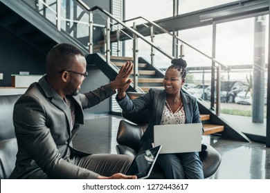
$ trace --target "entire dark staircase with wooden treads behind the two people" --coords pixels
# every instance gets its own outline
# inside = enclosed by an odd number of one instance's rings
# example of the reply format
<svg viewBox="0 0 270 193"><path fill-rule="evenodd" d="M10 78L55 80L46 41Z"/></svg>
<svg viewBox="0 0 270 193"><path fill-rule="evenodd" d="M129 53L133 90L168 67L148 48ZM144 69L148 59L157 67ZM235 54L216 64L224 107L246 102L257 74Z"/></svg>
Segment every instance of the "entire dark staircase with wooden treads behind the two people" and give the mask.
<svg viewBox="0 0 270 193"><path fill-rule="evenodd" d="M40 53L46 55L53 45L60 42L72 43L73 45L78 46L78 48L86 54L88 62L87 65L96 65L110 80L114 80L117 76L117 69L114 68L112 64L108 65L106 59L102 54L100 54L100 52L89 54L87 48L85 48L82 43L71 37L70 34L57 30L53 23L44 19L44 17L39 12L36 12L36 10L33 10L33 8L26 6L24 1L1 0L0 15L1 28L7 30L15 37L18 37L21 41L26 43L26 45L35 48ZM104 48L101 46L96 49L103 50ZM93 57L93 59L90 59L91 57ZM115 63L114 65L117 66L123 65L125 61L133 61L132 58L114 57L111 57L111 60ZM139 59L139 63L138 86L141 90L147 92L150 88L162 89L163 73L160 70L155 69L142 58ZM132 89L132 87L130 88L130 90L134 92L134 89ZM226 138L250 142L244 134L232 128L231 125L217 116L213 110L204 106L204 104L199 100L198 104L201 112L201 121L204 124L204 134L215 134L221 132L220 134Z"/></svg>

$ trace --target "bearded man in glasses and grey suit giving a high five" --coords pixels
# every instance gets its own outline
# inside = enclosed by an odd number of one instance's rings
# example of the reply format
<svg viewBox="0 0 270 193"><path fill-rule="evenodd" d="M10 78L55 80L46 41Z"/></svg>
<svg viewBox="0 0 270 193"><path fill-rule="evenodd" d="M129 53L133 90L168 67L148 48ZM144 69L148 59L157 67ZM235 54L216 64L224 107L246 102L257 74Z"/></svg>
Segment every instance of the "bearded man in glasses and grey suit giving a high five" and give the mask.
<svg viewBox="0 0 270 193"><path fill-rule="evenodd" d="M10 179L136 179L123 174L132 157L73 152L72 136L84 123L83 109L131 82L132 65L125 65L115 81L80 94L86 66L84 54L69 43L55 45L48 52L46 75L15 103L13 122L19 150Z"/></svg>

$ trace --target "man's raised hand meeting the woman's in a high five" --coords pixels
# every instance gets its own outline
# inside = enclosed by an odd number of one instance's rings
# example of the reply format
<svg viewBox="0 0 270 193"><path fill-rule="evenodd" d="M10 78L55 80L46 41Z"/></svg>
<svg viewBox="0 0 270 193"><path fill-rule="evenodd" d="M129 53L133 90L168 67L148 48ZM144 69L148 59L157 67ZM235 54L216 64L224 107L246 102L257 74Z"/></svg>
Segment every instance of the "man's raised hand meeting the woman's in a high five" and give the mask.
<svg viewBox="0 0 270 193"><path fill-rule="evenodd" d="M129 75L132 73L132 70L132 62L127 61L127 63L120 68L116 79L111 82L111 89L118 89L118 92L125 92L127 88L129 88L129 84L132 82L132 79L129 79Z"/></svg>

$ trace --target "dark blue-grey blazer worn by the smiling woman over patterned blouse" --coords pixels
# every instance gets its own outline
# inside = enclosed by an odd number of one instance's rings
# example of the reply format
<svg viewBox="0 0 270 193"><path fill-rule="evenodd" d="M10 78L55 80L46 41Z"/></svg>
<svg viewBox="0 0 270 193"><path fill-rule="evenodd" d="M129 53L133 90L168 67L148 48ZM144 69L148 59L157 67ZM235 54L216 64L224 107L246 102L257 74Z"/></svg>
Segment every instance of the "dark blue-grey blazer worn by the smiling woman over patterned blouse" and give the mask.
<svg viewBox="0 0 270 193"><path fill-rule="evenodd" d="M197 99L189 94L185 94L182 90L180 92L186 114L186 123L201 123ZM141 137L140 151L149 149L154 142L154 125L161 124L166 96L167 93L165 90L150 89L149 92L143 96L133 100L130 100L127 94L125 98L121 100L118 100L116 97L116 101L118 101L120 107L126 112L149 110L150 118L147 130L145 130L145 133Z"/></svg>

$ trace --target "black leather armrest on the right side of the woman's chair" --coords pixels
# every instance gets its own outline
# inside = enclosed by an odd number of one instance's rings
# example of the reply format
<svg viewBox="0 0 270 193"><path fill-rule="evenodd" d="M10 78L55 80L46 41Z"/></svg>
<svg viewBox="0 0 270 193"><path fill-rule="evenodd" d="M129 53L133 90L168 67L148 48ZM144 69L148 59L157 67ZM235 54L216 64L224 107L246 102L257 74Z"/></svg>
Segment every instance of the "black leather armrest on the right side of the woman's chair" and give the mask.
<svg viewBox="0 0 270 193"><path fill-rule="evenodd" d="M208 178L217 171L222 162L222 156L210 144L204 144L207 146L207 149L199 152L199 157L203 163L204 178Z"/></svg>

